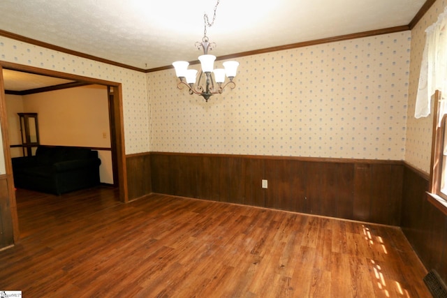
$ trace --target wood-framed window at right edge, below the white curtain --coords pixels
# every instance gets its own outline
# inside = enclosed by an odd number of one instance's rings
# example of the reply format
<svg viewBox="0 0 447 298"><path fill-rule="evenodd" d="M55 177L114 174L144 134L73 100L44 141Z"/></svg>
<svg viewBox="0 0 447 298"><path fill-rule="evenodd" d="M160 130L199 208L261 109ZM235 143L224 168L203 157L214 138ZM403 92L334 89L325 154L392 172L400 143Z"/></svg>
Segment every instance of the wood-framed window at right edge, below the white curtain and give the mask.
<svg viewBox="0 0 447 298"><path fill-rule="evenodd" d="M434 94L432 161L428 199L447 214L447 100Z"/></svg>

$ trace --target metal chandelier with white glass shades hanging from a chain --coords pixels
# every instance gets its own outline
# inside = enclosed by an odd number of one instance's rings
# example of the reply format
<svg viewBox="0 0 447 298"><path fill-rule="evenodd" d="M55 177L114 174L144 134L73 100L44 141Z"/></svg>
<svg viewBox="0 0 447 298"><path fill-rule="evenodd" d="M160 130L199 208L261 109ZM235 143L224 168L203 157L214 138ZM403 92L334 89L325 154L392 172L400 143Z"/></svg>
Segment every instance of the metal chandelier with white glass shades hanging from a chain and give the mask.
<svg viewBox="0 0 447 298"><path fill-rule="evenodd" d="M221 94L223 89L227 86L229 86L230 89L236 87L233 78L236 76L237 66L239 66L239 62L237 61L226 61L222 64L223 68L214 69L214 61L216 60L216 57L208 54L208 51L216 47L216 43L210 43L210 40L207 37L207 27L211 27L214 24L218 5L219 0L214 7L214 17L211 24L207 14L205 13L203 16L203 19L205 20L203 38L201 42L196 43L197 49L203 50L203 55L198 57L198 60L200 61L200 70L188 69L189 62L187 61L175 61L173 63L175 75L179 78L177 88L182 89L182 87L186 86L189 89L189 94L203 96L206 102L208 102L208 99L210 99L213 94ZM225 82L225 77L228 77L227 82Z"/></svg>

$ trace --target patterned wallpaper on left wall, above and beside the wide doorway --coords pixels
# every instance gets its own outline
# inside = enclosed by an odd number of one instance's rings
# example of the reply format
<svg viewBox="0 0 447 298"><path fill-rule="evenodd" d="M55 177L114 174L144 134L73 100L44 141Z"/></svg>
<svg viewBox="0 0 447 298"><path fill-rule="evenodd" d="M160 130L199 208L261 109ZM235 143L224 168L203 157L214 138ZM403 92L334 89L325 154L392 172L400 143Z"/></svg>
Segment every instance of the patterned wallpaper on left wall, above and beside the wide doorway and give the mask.
<svg viewBox="0 0 447 298"><path fill-rule="evenodd" d="M126 154L149 151L149 110L145 73L48 50L0 36L0 59L64 73L122 83Z"/></svg>

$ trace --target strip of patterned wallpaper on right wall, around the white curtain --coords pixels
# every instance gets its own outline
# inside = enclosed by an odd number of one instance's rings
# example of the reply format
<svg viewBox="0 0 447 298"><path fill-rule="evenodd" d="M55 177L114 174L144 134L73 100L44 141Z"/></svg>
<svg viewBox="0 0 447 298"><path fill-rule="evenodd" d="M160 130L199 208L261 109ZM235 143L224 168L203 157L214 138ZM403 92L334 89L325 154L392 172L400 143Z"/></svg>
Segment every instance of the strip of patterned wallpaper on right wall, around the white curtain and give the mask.
<svg viewBox="0 0 447 298"><path fill-rule="evenodd" d="M415 119L413 115L418 91L420 63L425 46L425 29L437 21L438 15L444 11L446 5L446 0L436 1L411 31L409 109L406 124L405 161L426 173L430 173L433 117L430 114L429 117Z"/></svg>

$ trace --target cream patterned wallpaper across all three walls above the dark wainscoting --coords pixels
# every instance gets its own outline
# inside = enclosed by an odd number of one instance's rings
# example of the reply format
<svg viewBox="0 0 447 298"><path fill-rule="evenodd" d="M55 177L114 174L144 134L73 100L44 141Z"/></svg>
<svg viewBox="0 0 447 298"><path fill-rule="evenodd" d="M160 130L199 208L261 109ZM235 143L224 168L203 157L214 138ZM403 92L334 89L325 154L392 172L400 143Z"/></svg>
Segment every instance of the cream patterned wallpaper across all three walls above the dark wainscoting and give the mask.
<svg viewBox="0 0 447 298"><path fill-rule="evenodd" d="M173 70L143 74L3 36L0 59L122 82L126 154L405 159L429 172L432 120L413 118L414 100L424 30L446 1L411 33L241 57L237 87L210 103L178 90Z"/></svg>

